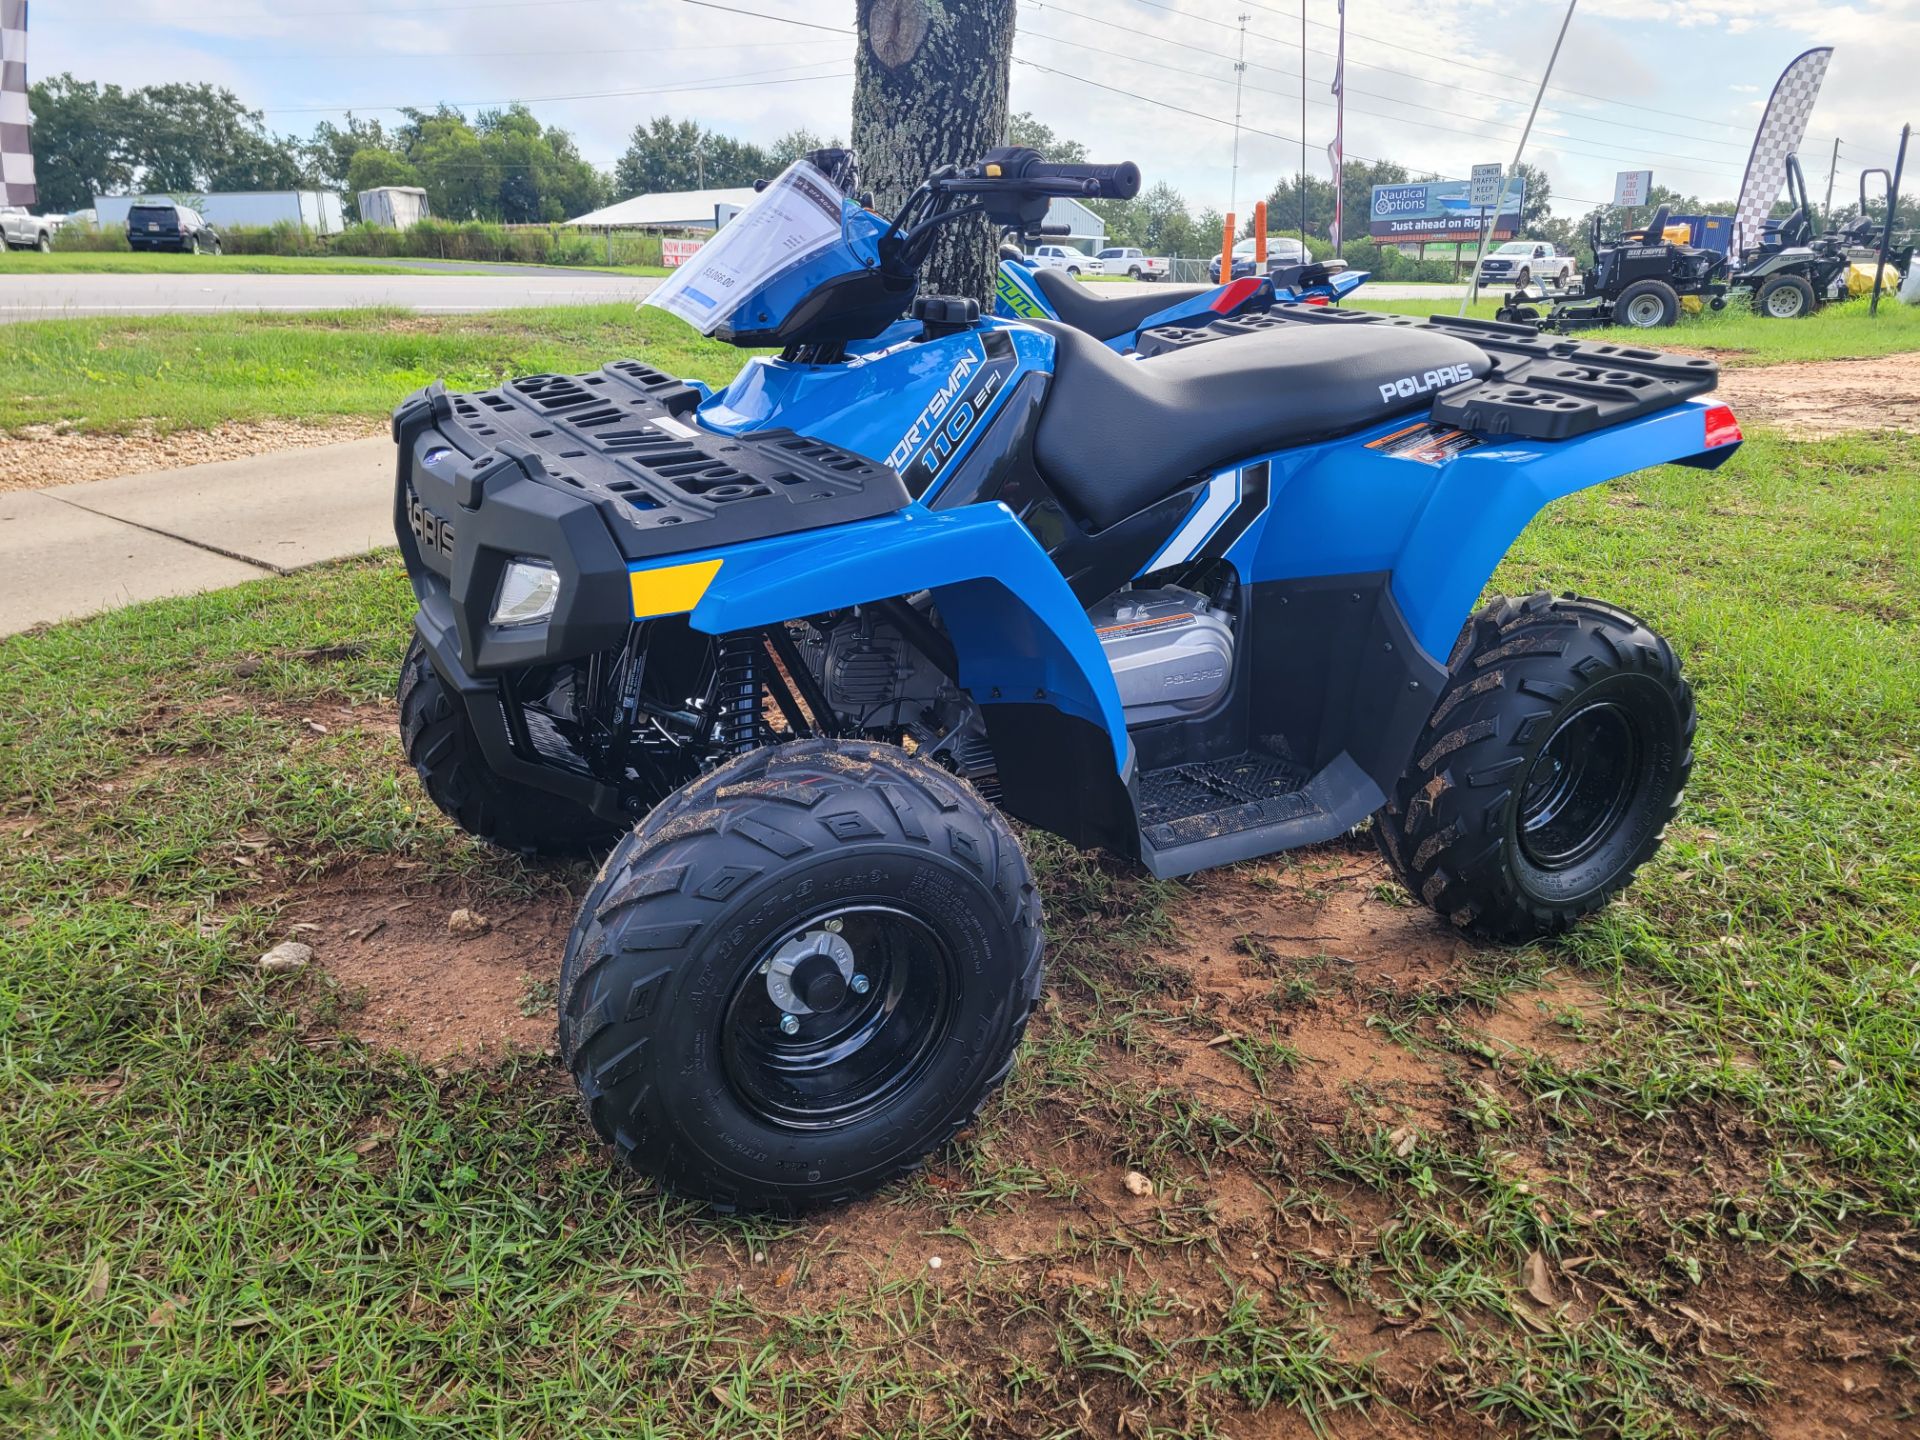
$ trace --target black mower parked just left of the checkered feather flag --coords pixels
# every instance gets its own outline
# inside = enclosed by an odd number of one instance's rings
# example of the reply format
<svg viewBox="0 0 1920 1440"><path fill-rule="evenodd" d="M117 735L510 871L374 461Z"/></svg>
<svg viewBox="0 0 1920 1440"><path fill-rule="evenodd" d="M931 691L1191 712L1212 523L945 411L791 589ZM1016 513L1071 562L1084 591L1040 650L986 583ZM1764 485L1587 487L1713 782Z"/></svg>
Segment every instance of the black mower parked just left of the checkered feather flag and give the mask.
<svg viewBox="0 0 1920 1440"><path fill-rule="evenodd" d="M1690 244L1684 227L1668 228L1668 213L1661 205L1644 230L1603 244L1601 215L1596 211L1588 236L1594 269L1580 276L1580 288L1551 298L1553 309L1542 315L1549 296L1540 286L1523 286L1507 296L1496 317L1559 332L1599 324L1653 330L1672 324L1684 307L1722 309L1726 255Z"/></svg>

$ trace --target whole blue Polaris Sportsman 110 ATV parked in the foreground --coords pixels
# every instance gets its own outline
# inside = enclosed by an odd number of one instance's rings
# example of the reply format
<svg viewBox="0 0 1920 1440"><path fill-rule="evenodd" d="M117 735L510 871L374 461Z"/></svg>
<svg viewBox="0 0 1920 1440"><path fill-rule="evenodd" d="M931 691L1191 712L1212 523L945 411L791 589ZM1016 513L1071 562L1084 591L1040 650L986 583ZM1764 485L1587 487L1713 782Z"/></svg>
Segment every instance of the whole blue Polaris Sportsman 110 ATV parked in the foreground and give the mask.
<svg viewBox="0 0 1920 1440"><path fill-rule="evenodd" d="M1734 453L1709 361L1306 305L1121 357L918 276L952 221L1135 167L995 150L891 221L854 188L797 163L655 294L778 348L724 390L616 361L394 419L407 756L474 835L611 847L559 1035L624 1162L795 1212L968 1125L1041 995L1008 816L1156 876L1371 816L1496 941L1653 854L1674 651L1599 601L1475 607L1546 503Z"/></svg>

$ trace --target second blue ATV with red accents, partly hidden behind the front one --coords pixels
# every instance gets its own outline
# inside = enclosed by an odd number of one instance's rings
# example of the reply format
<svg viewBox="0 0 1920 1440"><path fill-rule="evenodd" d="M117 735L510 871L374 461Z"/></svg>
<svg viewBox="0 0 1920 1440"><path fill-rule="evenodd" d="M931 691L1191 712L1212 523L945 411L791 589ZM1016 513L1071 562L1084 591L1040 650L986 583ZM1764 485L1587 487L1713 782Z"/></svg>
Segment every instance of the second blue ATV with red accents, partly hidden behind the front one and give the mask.
<svg viewBox="0 0 1920 1440"><path fill-rule="evenodd" d="M1148 332L1190 330L1273 305L1338 305L1365 282L1367 271L1350 271L1342 261L1309 261L1227 284L1162 284L1148 294L1100 296L1071 275L1029 265L1025 248L1014 242L1000 246L993 313L1008 321L1060 321L1125 355Z"/></svg>

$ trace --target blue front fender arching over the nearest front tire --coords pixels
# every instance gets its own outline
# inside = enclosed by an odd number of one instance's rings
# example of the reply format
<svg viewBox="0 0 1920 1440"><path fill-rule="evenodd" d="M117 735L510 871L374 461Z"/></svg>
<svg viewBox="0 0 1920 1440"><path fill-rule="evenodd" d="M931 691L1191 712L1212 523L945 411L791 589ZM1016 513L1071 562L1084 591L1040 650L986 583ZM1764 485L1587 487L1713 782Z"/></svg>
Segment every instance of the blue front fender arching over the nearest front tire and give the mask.
<svg viewBox="0 0 1920 1440"><path fill-rule="evenodd" d="M720 561L689 614L722 636L851 605L933 591L981 705L1046 705L1106 735L1131 770L1127 724L1100 641L1058 566L1004 505L904 509L874 520L672 557ZM636 574L655 566L636 566Z"/></svg>

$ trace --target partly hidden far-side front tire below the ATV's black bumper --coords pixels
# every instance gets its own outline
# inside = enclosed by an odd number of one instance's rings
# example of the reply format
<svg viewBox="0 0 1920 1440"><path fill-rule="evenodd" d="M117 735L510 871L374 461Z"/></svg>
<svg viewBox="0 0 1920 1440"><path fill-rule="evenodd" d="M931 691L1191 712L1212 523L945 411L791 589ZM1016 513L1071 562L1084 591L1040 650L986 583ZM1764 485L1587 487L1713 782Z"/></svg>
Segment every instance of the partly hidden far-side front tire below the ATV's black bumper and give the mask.
<svg viewBox="0 0 1920 1440"><path fill-rule="evenodd" d="M461 829L520 854L589 854L620 826L532 785L495 776L467 707L434 670L415 636L399 664L399 743L426 797Z"/></svg>

